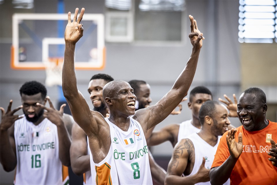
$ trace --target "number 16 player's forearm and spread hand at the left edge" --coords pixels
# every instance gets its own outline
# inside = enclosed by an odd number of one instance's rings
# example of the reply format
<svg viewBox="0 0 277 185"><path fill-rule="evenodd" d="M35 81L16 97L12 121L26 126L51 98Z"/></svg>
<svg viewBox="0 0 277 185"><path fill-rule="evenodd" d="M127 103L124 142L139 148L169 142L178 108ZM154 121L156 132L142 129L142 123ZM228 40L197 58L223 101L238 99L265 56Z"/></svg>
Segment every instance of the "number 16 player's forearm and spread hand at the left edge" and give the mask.
<svg viewBox="0 0 277 185"><path fill-rule="evenodd" d="M19 117L14 115L14 113L22 108L11 110L12 100L8 106L7 112L5 109L0 107L2 117L0 124L0 162L3 165L5 171L14 170L17 160L16 160L16 147L14 139L14 122L23 116Z"/></svg>

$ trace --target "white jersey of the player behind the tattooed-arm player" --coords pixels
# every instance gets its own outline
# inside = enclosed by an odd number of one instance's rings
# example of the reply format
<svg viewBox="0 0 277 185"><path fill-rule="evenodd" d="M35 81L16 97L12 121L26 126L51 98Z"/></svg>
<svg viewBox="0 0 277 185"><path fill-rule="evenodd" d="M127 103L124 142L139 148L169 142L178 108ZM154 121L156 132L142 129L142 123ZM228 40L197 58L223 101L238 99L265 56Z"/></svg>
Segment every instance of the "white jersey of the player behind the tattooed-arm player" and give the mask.
<svg viewBox="0 0 277 185"><path fill-rule="evenodd" d="M187 136L189 136L190 134L198 133L200 131L200 129L194 127L191 124L191 122L192 122L192 120L190 119L190 120L187 120L187 121L184 121L184 122L180 123L179 132L178 132L178 142L181 139L187 138Z"/></svg>

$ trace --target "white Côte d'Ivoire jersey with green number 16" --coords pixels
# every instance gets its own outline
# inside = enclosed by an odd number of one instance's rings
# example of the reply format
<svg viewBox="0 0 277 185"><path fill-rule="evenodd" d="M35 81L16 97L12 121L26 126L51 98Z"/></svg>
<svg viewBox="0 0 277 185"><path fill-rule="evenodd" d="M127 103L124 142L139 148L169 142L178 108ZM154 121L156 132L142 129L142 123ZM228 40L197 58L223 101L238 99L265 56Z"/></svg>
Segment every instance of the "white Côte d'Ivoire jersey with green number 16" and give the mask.
<svg viewBox="0 0 277 185"><path fill-rule="evenodd" d="M14 123L14 138L17 158L15 184L68 184L68 169L63 168L59 160L55 124L45 118L34 125L24 115ZM64 177L63 172L66 173Z"/></svg>

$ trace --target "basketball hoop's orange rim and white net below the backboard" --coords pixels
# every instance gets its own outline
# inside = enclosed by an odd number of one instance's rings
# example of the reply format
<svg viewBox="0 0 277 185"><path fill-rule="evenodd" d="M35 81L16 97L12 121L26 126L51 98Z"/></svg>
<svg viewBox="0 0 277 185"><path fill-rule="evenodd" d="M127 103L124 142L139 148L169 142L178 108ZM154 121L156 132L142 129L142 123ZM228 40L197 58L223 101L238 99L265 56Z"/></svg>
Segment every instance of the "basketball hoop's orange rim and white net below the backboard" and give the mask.
<svg viewBox="0 0 277 185"><path fill-rule="evenodd" d="M45 64L45 72L46 72L45 85L50 87L54 85L61 86L63 58L61 57L48 58L48 61L45 61L44 64Z"/></svg>

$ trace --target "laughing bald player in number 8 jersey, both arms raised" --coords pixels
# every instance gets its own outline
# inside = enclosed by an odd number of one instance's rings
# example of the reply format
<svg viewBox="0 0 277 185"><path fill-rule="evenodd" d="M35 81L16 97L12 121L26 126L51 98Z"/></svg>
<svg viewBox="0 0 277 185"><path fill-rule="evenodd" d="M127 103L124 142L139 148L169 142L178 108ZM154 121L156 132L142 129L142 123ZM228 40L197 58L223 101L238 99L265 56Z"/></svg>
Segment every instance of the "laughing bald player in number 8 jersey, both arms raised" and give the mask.
<svg viewBox="0 0 277 185"><path fill-rule="evenodd" d="M203 34L190 16L192 54L173 88L154 106L135 112L136 96L127 82L115 80L106 84L103 98L110 116L104 118L99 112L89 109L76 84L74 49L83 35L80 21L84 11L82 8L77 19L76 8L73 22L70 20L70 12L68 13L62 75L63 94L74 120L89 138L97 173L96 181L98 184L152 184L145 134L149 128L164 120L186 96L196 71Z"/></svg>

